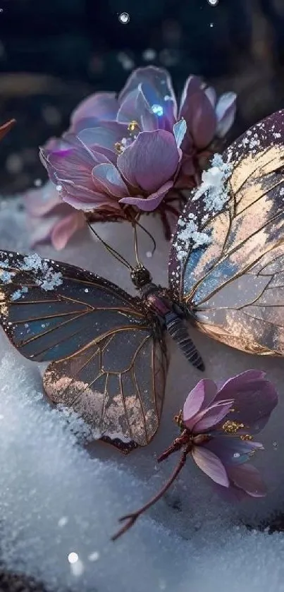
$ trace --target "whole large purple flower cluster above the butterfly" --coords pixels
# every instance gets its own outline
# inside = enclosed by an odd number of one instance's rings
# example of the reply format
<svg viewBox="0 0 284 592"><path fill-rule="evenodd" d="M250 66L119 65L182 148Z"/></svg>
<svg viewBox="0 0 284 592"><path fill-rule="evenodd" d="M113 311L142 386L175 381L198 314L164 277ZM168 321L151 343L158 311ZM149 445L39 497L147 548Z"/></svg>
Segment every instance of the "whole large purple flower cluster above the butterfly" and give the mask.
<svg viewBox="0 0 284 592"><path fill-rule="evenodd" d="M234 116L235 94L216 103L214 90L195 76L178 112L168 72L138 68L117 98L100 92L85 99L63 149L42 148L42 162L63 201L77 210L122 217L125 206L152 212L173 189L197 184L197 152L225 133Z"/></svg>

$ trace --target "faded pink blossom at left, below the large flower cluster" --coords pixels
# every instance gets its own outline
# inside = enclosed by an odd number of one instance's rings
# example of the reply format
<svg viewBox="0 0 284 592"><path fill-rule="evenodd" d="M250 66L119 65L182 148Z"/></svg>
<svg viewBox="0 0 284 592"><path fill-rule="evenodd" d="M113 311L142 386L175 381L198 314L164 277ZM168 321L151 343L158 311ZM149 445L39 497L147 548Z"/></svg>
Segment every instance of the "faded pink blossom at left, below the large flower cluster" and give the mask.
<svg viewBox="0 0 284 592"><path fill-rule="evenodd" d="M62 203L51 181L41 188L27 191L24 199L32 247L37 243L51 241L56 250L61 250L71 236L86 224L82 212Z"/></svg>

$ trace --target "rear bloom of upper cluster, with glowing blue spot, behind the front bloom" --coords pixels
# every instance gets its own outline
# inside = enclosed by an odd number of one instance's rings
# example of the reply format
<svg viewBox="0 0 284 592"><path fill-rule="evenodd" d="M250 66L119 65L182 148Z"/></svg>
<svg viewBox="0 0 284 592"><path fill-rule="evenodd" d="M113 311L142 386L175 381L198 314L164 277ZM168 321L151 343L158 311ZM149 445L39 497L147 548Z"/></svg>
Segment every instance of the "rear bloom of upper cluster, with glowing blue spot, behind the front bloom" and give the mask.
<svg viewBox="0 0 284 592"><path fill-rule="evenodd" d="M183 151L190 154L192 147L209 146L214 136L223 138L234 122L235 111L235 92L226 92L217 100L214 88L195 75L187 78L178 109L169 73L147 66L130 74L118 97L114 92L96 92L82 101L73 112L70 129L76 132L104 121L137 121L142 131L171 132L184 118L187 138Z"/></svg>

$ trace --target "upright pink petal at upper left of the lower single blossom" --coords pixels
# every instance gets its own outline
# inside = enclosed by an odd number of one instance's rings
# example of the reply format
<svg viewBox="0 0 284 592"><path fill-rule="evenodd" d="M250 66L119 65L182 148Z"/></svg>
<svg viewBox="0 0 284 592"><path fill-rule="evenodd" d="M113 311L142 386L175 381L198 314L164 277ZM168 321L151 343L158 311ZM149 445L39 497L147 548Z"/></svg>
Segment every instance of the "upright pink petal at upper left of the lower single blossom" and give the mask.
<svg viewBox="0 0 284 592"><path fill-rule="evenodd" d="M216 392L215 382L204 378L203 380L199 380L195 388L187 395L183 406L183 422L189 430L192 427L192 423L195 422L195 415L202 408L205 399L210 401L211 398L215 397Z"/></svg>

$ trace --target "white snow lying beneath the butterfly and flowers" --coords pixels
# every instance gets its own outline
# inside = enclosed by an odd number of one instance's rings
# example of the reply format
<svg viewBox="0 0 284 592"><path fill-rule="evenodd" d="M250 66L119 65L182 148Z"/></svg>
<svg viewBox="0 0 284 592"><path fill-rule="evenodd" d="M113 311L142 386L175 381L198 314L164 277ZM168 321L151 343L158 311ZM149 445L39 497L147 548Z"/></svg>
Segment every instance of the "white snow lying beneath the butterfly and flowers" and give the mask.
<svg viewBox="0 0 284 592"><path fill-rule="evenodd" d="M149 238L140 236L140 256L157 283L166 285L167 250L156 220L146 218L157 249L147 258ZM123 256L132 252L125 224L97 226ZM0 208L0 247L28 251L28 229L17 200ZM87 267L133 293L128 270L104 253L85 231L60 254L40 255ZM283 509L283 361L248 356L191 332L206 363L206 377L222 380L247 370L267 372L280 394L278 411L261 434L265 451L256 465L270 492L264 500L226 505L197 467L188 462L168 495L116 543L109 540L118 517L149 500L178 457L161 465L156 456L177 435L173 416L200 379L171 345L161 428L145 449L123 457L99 442L82 447L84 427L51 409L42 397L42 367L26 361L0 335L0 528L1 559L56 592L282 592L282 533L259 531L260 521ZM252 528L247 529L245 524ZM70 553L78 561L70 563ZM75 558L75 555L71 555Z"/></svg>

